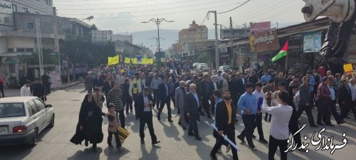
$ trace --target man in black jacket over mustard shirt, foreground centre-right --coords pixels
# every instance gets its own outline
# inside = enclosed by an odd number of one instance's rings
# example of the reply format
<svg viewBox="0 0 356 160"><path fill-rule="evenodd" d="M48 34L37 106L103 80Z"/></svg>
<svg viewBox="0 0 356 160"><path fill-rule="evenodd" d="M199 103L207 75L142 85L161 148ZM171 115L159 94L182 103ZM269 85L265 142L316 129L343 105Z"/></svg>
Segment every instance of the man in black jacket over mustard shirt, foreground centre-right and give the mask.
<svg viewBox="0 0 356 160"><path fill-rule="evenodd" d="M211 159L216 159L216 152L220 149L222 144L226 144L224 137L222 134L226 134L226 136L236 144L235 141L235 125L233 119L233 112L231 106L231 95L229 90L223 91L224 100L221 100L216 103L216 114L215 114L215 127L219 132L214 130L214 137L216 137L217 141L211 150L210 156ZM237 150L234 147L231 147L232 156L234 160L239 159L237 156Z"/></svg>

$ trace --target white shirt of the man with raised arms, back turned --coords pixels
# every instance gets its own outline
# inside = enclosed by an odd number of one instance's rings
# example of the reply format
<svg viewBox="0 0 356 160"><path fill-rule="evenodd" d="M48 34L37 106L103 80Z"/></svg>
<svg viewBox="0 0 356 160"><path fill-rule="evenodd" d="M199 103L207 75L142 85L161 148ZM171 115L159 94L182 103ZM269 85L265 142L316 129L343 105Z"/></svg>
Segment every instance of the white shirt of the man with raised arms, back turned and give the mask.
<svg viewBox="0 0 356 160"><path fill-rule="evenodd" d="M289 138L288 124L292 116L293 108L289 105L281 105L268 107L266 100L263 101L262 110L272 114L270 134L273 138L286 140ZM273 103L278 103L273 100Z"/></svg>

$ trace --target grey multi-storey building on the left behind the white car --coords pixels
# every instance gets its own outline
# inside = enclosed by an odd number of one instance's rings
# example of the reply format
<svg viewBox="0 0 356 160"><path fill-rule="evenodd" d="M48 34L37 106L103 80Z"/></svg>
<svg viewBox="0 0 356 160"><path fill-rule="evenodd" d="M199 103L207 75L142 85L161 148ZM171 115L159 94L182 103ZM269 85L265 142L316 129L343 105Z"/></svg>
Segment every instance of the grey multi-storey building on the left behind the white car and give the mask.
<svg viewBox="0 0 356 160"><path fill-rule="evenodd" d="M7 82L17 83L19 76L27 70L26 62L21 62L21 56L31 55L38 50L37 31L41 33L41 48L54 50L54 17L14 12L12 19L11 29L0 30L0 75ZM57 33L59 40L63 40L66 33L90 36L90 25L76 18L57 17Z"/></svg>

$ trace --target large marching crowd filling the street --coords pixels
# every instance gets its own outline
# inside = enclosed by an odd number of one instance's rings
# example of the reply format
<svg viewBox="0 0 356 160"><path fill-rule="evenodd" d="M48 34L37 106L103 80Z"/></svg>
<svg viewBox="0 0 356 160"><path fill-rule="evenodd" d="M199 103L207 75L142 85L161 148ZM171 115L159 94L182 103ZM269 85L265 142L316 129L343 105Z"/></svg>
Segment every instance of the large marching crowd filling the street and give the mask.
<svg viewBox="0 0 356 160"><path fill-rule="evenodd" d="M112 128L108 129L108 145L112 146L112 134L118 139L118 129L115 126L125 128L125 114L132 114L130 112L135 109L135 117L140 119L141 143L145 143L144 128L147 124L152 145L155 145L159 141L153 129L152 119L156 115L152 114L152 110L158 111L157 119L160 121L162 110L167 107L167 120L173 122L173 104L178 109L178 124L187 130L189 136L199 141L201 137L197 122L201 120L200 117L214 118L216 144L210 153L211 159L216 159L221 145L232 151L233 159L238 159L236 149L222 135L225 134L236 144L234 123L240 118L245 127L237 136L241 143L246 143L246 138L250 149L256 150L252 139L256 138L253 132L257 128L259 142L268 144L268 159L273 159L278 146L281 149L281 159L287 159L284 151L287 150L290 134L293 135L298 150L303 151L300 148L300 134L295 133L299 130L299 118L304 111L310 127L333 127L331 114L337 124L342 124L349 118L350 110L356 119L356 79L351 73L333 74L330 70L320 68L309 70L306 75L293 69L287 70L286 74L278 73L273 68L248 68L244 72L201 72L187 64L174 65L174 68L175 70L171 70L171 67L155 68L153 65L124 68L117 65L90 70L85 78L88 95L80 109L77 133L86 128L90 128L87 131L98 131L101 127L100 119L103 120L101 115L112 114L114 118L110 118L109 123L109 128ZM105 100L109 110L106 114L102 113ZM100 110L85 104L92 104ZM316 123L312 113L315 107L318 110ZM97 113L93 114L94 110ZM117 122L114 122L115 119ZM271 122L269 143L263 137L263 119ZM96 143L103 140L100 132L96 132L98 135L95 132L84 133L88 135L73 137L72 142L80 144L85 139L85 145L89 141L95 149ZM119 142L117 148L120 150Z"/></svg>

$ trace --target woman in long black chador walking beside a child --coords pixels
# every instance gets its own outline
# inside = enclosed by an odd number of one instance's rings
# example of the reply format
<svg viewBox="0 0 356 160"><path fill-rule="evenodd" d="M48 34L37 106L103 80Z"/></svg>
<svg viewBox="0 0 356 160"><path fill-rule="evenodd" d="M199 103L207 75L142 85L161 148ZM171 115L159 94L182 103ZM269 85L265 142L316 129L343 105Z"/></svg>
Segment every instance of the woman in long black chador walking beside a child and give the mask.
<svg viewBox="0 0 356 160"><path fill-rule="evenodd" d="M95 104L93 96L85 95L79 112L79 122L75 130L75 135L70 142L73 144L81 144L85 140L85 146L88 142L93 144L93 151L96 151L96 144L103 142L103 112Z"/></svg>

